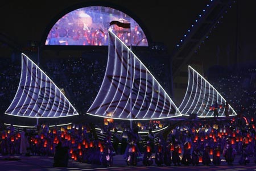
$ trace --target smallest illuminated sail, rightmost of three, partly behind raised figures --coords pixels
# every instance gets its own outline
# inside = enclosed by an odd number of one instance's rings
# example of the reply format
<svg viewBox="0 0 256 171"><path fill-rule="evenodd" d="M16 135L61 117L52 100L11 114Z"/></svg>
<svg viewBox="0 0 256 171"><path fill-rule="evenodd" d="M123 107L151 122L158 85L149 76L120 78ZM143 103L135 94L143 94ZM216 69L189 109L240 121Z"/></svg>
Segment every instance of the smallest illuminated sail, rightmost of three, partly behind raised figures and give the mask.
<svg viewBox="0 0 256 171"><path fill-rule="evenodd" d="M195 69L188 66L188 87L179 106L181 114L197 114L197 117L214 117L213 105L217 102L218 116L225 116L226 100ZM229 105L229 116L237 115Z"/></svg>

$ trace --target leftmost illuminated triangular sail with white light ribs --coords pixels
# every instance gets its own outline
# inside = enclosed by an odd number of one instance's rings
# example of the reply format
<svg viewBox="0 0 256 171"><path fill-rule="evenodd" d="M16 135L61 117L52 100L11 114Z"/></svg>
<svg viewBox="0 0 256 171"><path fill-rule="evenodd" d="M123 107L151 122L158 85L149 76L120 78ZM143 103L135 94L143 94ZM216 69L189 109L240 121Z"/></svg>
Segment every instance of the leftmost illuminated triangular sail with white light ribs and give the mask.
<svg viewBox="0 0 256 171"><path fill-rule="evenodd" d="M19 87L5 114L57 118L78 115L78 112L46 73L22 53Z"/></svg>

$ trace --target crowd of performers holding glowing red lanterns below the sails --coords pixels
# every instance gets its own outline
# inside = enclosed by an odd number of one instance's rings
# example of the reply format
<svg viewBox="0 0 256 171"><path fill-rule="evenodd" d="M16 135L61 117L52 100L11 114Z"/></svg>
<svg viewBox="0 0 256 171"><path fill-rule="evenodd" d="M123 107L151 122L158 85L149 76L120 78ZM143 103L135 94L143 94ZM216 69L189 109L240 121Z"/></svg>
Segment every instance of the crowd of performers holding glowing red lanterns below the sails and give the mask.
<svg viewBox="0 0 256 171"><path fill-rule="evenodd" d="M117 128L113 132L112 128L107 128L104 139L98 137L95 127L88 125L60 130L38 127L34 134L26 129L15 132L10 128L2 131L0 151L1 155L54 156L53 166L67 166L70 159L113 166L115 155L122 155L129 166L138 162L157 166L221 165L221 159L233 165L236 156L240 156L238 163L241 165L256 163L254 122L248 123L246 128L231 126L226 124L224 128L230 127L232 131L221 131L209 123L188 126L188 130L176 126L166 138L155 135L150 129L143 139L138 128L123 130L122 134L118 134Z"/></svg>

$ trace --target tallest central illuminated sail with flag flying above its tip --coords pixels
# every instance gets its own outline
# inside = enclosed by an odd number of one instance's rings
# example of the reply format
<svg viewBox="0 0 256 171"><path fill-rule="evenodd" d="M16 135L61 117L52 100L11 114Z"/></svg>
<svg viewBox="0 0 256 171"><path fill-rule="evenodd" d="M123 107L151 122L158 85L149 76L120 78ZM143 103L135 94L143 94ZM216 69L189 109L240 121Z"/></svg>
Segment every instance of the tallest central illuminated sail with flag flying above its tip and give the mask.
<svg viewBox="0 0 256 171"><path fill-rule="evenodd" d="M87 113L126 120L181 116L179 109L146 66L111 31L104 80Z"/></svg>

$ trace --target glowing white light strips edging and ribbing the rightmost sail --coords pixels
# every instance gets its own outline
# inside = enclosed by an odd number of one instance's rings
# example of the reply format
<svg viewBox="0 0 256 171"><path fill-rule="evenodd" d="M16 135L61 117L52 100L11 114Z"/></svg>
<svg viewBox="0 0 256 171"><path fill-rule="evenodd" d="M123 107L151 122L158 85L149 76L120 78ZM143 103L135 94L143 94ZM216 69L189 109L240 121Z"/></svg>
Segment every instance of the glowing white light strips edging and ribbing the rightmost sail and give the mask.
<svg viewBox="0 0 256 171"><path fill-rule="evenodd" d="M203 76L201 76L201 74L199 74L195 69L193 69L191 66L188 66L188 68L189 69L192 69L192 75L193 75L193 78L195 77L194 76L194 72L196 73L195 75L196 75L196 77L201 77L201 79L203 79L204 81L205 81L205 84L207 84L208 86L209 86L209 88L208 88L208 91L209 91L209 93L212 93L213 95L212 95L212 97L213 97L213 100L212 100L212 102L214 102L214 91L215 91L215 93L216 93L216 99L217 99L217 102L218 102L218 98L219 98L219 96L220 96L220 101L222 102L222 100L224 101L224 102L226 102L226 100L225 100L225 98L224 97L222 97L222 95L220 94L220 93L218 93L218 91L203 77ZM188 77L189 77L189 79L188 79L188 85L190 84L190 74L188 74ZM192 79L193 80L193 79ZM194 80L193 80L193 87L194 87ZM196 85L197 86L197 85ZM193 87L192 87L192 90L193 90ZM206 86L205 86L205 88L206 88ZM185 101L185 97L187 96L187 93L188 93L188 89L189 89L189 86L187 87L187 91L186 91L186 93L185 93L185 96L184 96L184 99L183 99L183 101L181 102L181 105L183 105L183 102ZM210 89L212 89L212 91L210 92ZM192 91L191 91L191 93L192 93ZM208 94L209 94L208 93ZM190 97L191 97L191 95L189 95L189 99L190 99ZM207 104L210 102L210 95L208 95L208 101L207 101ZM187 103L186 103L186 105L185 105L185 107L187 106L187 104L188 104L188 102L189 101L187 101ZM179 108L181 107L181 105L179 106ZM212 104L211 104L212 105ZM185 107L183 108L183 110L185 109ZM204 109L204 111L207 109L208 107L206 106L205 107L205 109ZM187 110L187 111L189 111L191 109L191 107L189 107L189 109ZM183 110L181 110L181 113L183 112ZM234 115L237 115L236 114L236 111L234 111L234 109L229 105L229 111L230 110L232 110L232 114L229 114L229 116L234 116ZM204 113L204 111L203 111L203 113ZM218 112L220 111L220 109L218 109ZM208 112L207 112L207 114L206 114L206 116L201 116L201 115L197 115L198 117L200 117L200 118L212 118L213 117L213 114L211 114L210 116L208 116L208 114L209 114L209 112L210 112L210 110L208 110ZM211 112L213 112L213 111L211 111ZM188 114L183 114L183 115L188 115ZM224 111L222 111L221 112L221 115L219 115L220 117L224 117L225 115L224 115Z"/></svg>

